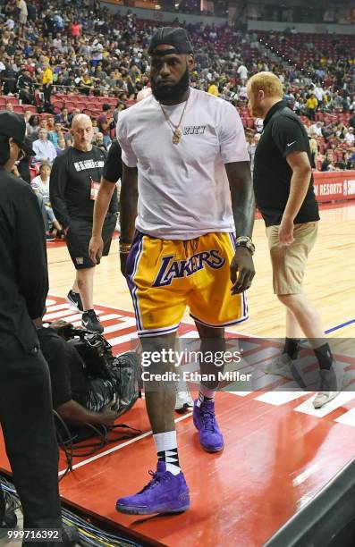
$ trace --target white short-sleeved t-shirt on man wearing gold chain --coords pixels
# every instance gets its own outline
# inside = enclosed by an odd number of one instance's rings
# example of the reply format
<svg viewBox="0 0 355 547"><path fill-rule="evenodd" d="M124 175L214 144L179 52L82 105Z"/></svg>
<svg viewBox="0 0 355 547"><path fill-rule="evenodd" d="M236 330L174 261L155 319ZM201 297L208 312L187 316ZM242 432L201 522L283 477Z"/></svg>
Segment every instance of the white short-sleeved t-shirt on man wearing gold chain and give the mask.
<svg viewBox="0 0 355 547"><path fill-rule="evenodd" d="M184 106L165 106L175 125ZM181 130L175 145L153 96L120 115L123 163L138 168L137 230L165 240L234 231L224 164L249 161L239 114L223 99L190 88Z"/></svg>

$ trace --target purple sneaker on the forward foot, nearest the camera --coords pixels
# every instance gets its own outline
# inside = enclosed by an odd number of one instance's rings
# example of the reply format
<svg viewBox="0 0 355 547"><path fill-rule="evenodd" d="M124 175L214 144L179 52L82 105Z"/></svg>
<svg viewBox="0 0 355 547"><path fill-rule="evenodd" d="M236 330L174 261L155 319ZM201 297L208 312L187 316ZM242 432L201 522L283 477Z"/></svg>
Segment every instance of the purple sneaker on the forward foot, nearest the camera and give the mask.
<svg viewBox="0 0 355 547"><path fill-rule="evenodd" d="M140 492L117 500L116 509L128 515L181 513L190 508L189 488L182 473L166 471L165 462L158 461L152 480Z"/></svg>

